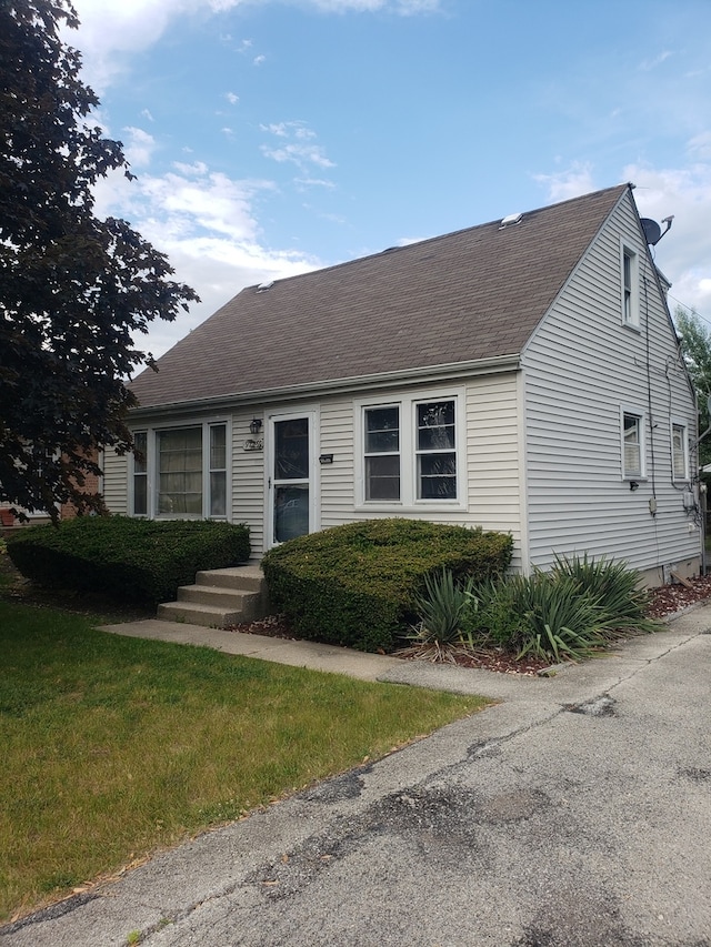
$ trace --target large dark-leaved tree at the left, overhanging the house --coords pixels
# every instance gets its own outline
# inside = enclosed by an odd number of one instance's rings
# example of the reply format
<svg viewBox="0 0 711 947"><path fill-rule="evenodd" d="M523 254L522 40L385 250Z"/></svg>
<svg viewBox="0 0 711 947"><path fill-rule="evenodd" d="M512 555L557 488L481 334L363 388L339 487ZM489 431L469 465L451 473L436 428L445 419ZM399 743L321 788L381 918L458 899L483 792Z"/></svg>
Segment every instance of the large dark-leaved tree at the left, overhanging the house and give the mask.
<svg viewBox="0 0 711 947"><path fill-rule="evenodd" d="M92 185L119 170L121 142L91 122L99 104L69 0L0 0L0 500L30 511L100 498L98 446L131 449L132 333L198 300L123 220L99 220Z"/></svg>

